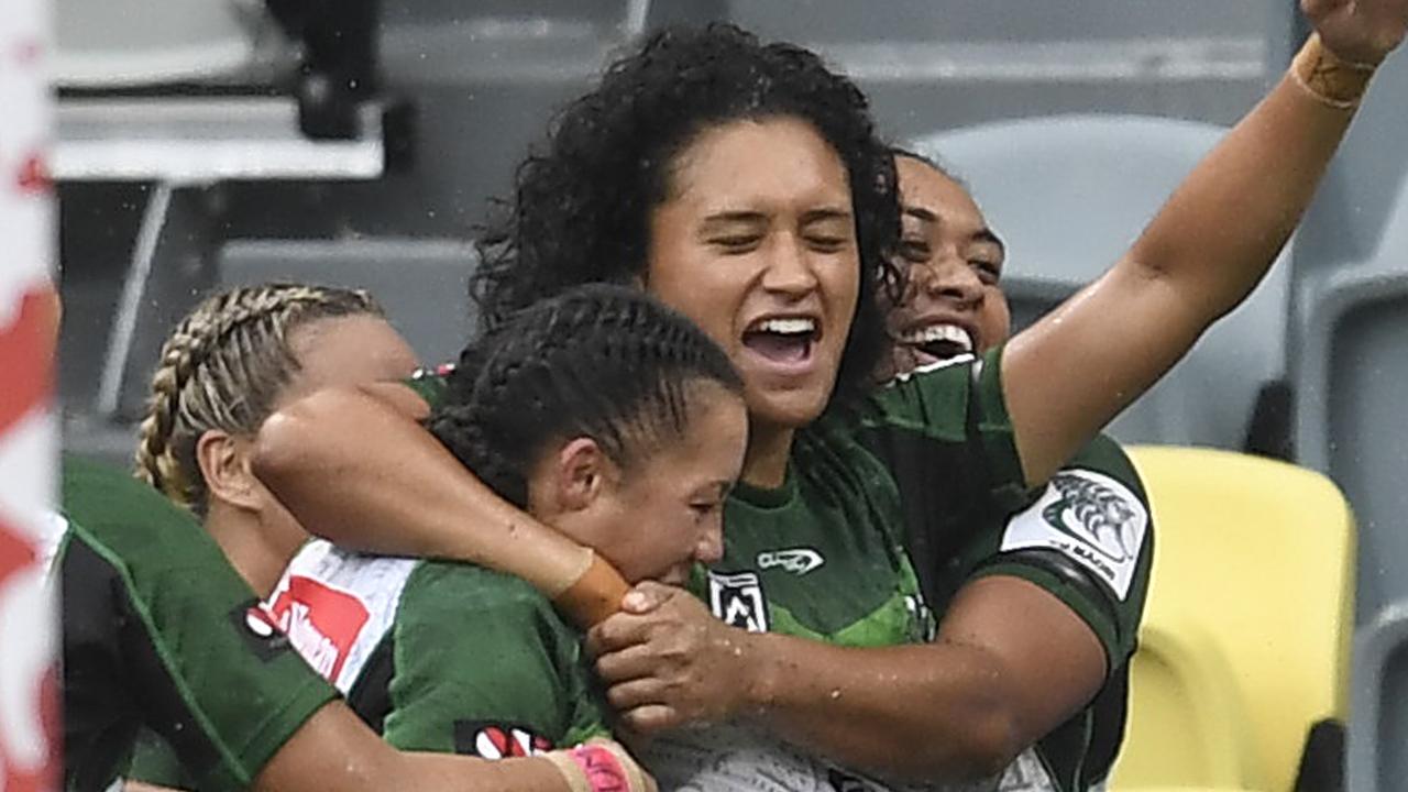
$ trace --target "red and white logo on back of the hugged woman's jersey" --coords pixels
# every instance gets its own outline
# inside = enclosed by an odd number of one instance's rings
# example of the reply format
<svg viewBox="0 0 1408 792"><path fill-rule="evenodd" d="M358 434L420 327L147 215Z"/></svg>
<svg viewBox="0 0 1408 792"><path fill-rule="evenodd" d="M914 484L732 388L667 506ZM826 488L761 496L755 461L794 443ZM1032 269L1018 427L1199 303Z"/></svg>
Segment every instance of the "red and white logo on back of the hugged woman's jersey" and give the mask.
<svg viewBox="0 0 1408 792"><path fill-rule="evenodd" d="M269 612L308 665L334 682L369 617L356 596L301 575L289 578Z"/></svg>

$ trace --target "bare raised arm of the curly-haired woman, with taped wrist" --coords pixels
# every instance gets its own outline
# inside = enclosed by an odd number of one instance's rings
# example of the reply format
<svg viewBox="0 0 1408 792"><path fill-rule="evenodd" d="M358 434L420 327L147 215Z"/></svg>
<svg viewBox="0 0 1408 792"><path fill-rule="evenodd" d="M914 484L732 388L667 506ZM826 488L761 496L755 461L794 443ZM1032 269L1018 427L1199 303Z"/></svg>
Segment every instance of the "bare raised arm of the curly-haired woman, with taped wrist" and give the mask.
<svg viewBox="0 0 1408 792"><path fill-rule="evenodd" d="M1371 66L1408 24L1405 0L1301 7L1316 35L1290 73L1112 269L1008 345L1004 392L1029 482L1049 478L1256 286L1305 211Z"/></svg>

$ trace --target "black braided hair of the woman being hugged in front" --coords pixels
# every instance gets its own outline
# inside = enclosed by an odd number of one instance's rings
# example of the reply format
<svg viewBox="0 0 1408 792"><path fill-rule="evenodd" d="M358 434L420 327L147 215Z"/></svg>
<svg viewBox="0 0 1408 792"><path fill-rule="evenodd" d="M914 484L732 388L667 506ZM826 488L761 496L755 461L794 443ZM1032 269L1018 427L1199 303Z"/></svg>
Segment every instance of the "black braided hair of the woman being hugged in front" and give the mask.
<svg viewBox="0 0 1408 792"><path fill-rule="evenodd" d="M684 433L701 383L742 396L728 355L635 289L580 286L470 344L427 426L505 500L553 440L590 437L627 469Z"/></svg>

